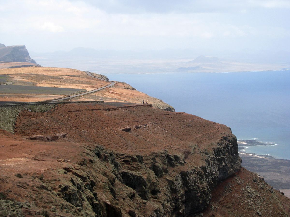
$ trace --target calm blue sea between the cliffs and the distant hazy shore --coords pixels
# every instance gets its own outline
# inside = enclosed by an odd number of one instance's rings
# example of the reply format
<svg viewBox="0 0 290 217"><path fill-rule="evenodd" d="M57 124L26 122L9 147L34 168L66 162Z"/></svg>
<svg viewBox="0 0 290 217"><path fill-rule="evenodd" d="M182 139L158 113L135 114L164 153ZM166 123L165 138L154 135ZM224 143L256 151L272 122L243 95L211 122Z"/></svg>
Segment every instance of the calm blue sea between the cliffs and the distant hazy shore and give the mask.
<svg viewBox="0 0 290 217"><path fill-rule="evenodd" d="M105 74L183 111L273 145L248 153L290 159L290 71Z"/></svg>

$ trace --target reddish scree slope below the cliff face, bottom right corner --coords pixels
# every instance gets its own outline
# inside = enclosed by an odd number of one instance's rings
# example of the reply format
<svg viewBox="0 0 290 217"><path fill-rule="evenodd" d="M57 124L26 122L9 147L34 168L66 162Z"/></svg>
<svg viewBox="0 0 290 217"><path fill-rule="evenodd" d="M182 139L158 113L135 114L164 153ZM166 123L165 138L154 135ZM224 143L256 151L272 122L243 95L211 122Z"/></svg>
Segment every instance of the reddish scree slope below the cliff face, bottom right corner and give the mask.
<svg viewBox="0 0 290 217"><path fill-rule="evenodd" d="M204 216L289 216L290 199L242 168L218 184Z"/></svg>

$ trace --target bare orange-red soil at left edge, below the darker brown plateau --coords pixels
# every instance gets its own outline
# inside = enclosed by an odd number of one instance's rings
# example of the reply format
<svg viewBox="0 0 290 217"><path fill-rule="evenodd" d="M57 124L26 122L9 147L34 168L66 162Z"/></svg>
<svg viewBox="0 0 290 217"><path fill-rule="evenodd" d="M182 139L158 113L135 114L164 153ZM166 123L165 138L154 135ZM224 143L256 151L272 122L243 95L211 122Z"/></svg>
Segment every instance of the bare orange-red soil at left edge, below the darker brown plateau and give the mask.
<svg viewBox="0 0 290 217"><path fill-rule="evenodd" d="M19 178L14 177L15 174L41 174L58 167L60 162L56 159L67 156L74 160L81 159L81 146L76 144L32 141L4 130L0 130L0 135L1 176L10 176L9 179L13 180L11 187L17 187L14 186L14 180L19 181Z"/></svg>

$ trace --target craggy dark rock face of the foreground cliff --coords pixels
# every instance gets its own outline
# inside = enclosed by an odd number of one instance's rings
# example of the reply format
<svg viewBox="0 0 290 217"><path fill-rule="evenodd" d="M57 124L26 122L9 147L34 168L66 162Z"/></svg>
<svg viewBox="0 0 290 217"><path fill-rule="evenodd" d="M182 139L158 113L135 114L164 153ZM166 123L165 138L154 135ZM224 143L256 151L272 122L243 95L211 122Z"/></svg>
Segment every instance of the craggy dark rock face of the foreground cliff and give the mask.
<svg viewBox="0 0 290 217"><path fill-rule="evenodd" d="M212 152L204 153L205 163L195 166L186 156L166 150L142 156L108 152L97 146L84 151L86 157L77 166L67 161L61 184L47 179L38 188L50 192L61 204L55 213L65 209L86 216L129 212L136 216L188 216L205 209L215 185L241 168L237 151L235 137L224 137ZM131 211L117 203L120 200L130 203ZM138 210L140 203L143 208Z"/></svg>

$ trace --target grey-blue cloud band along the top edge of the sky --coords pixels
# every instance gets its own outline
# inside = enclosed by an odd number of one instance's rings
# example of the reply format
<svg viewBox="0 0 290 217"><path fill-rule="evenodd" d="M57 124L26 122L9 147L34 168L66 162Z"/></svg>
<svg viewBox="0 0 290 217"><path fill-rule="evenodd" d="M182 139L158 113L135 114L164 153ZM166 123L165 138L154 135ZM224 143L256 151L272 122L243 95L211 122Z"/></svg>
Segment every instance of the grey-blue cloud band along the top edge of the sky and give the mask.
<svg viewBox="0 0 290 217"><path fill-rule="evenodd" d="M70 0L77 2L79 0ZM228 13L255 8L289 8L289 0L83 0L108 13Z"/></svg>

